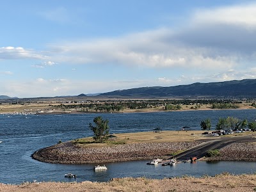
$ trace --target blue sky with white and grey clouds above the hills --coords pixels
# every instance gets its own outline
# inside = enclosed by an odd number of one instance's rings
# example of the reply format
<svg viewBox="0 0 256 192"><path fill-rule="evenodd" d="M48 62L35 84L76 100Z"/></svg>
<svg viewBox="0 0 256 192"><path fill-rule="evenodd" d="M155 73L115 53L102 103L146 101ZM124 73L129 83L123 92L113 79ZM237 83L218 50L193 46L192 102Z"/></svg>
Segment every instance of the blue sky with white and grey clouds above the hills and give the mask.
<svg viewBox="0 0 256 192"><path fill-rule="evenodd" d="M0 95L256 79L255 1L0 1Z"/></svg>

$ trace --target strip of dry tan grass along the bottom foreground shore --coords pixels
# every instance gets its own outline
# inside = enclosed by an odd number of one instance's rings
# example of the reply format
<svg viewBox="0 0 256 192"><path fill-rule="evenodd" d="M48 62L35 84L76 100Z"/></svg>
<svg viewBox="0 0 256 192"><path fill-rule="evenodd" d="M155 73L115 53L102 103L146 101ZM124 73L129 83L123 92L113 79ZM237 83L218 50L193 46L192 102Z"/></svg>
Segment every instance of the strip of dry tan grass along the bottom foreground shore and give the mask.
<svg viewBox="0 0 256 192"><path fill-rule="evenodd" d="M42 182L20 185L0 184L0 191L10 192L48 192L48 191L161 191L161 192L181 192L181 191L256 191L256 175L230 175L223 173L215 177L180 177L172 179L147 179L147 178L123 178L114 179L109 182Z"/></svg>

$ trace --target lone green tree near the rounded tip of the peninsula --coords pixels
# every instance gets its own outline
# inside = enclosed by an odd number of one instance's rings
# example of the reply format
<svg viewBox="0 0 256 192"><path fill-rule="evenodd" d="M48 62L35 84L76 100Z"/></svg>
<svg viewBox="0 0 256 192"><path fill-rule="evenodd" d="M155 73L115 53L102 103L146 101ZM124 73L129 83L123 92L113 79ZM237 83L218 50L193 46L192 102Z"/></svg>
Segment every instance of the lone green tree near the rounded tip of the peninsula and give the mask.
<svg viewBox="0 0 256 192"><path fill-rule="evenodd" d="M102 143L105 140L108 140L109 134L109 125L108 120L103 120L101 116L97 116L93 119L95 126L92 123L89 124L90 129L93 131L93 139Z"/></svg>

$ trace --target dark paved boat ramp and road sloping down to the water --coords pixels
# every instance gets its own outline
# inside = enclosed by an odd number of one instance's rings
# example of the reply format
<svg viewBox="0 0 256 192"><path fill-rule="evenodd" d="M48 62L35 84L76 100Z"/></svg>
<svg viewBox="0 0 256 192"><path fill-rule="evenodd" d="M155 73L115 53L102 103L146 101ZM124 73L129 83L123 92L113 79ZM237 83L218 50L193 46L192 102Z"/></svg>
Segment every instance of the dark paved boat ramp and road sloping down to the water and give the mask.
<svg viewBox="0 0 256 192"><path fill-rule="evenodd" d="M200 141L200 140L199 140ZM204 157L208 150L212 149L220 149L227 145L230 145L231 143L236 142L255 142L256 139L250 136L234 136L234 137L221 137L217 139L208 140L201 140L204 141L204 143L201 143L200 145L196 145L193 148L190 148L189 150L186 150L185 152L182 152L175 156L175 158L178 161L184 161L189 159L190 157L197 157L197 159L200 159L201 157ZM173 157L170 157L172 159Z"/></svg>

